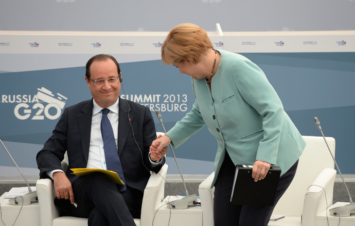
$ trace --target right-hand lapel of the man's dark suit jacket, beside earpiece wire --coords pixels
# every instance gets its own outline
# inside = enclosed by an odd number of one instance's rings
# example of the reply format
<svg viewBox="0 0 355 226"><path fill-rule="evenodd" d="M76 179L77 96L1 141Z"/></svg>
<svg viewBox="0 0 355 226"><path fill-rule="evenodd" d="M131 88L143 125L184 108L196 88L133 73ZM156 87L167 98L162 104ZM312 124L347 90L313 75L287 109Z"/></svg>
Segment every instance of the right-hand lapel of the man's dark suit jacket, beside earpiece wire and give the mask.
<svg viewBox="0 0 355 226"><path fill-rule="evenodd" d="M118 112L118 156L121 156L123 146L126 143L129 131L131 128L131 123L133 123L134 116L132 115L132 111L126 102L119 98L118 102L119 112Z"/></svg>

